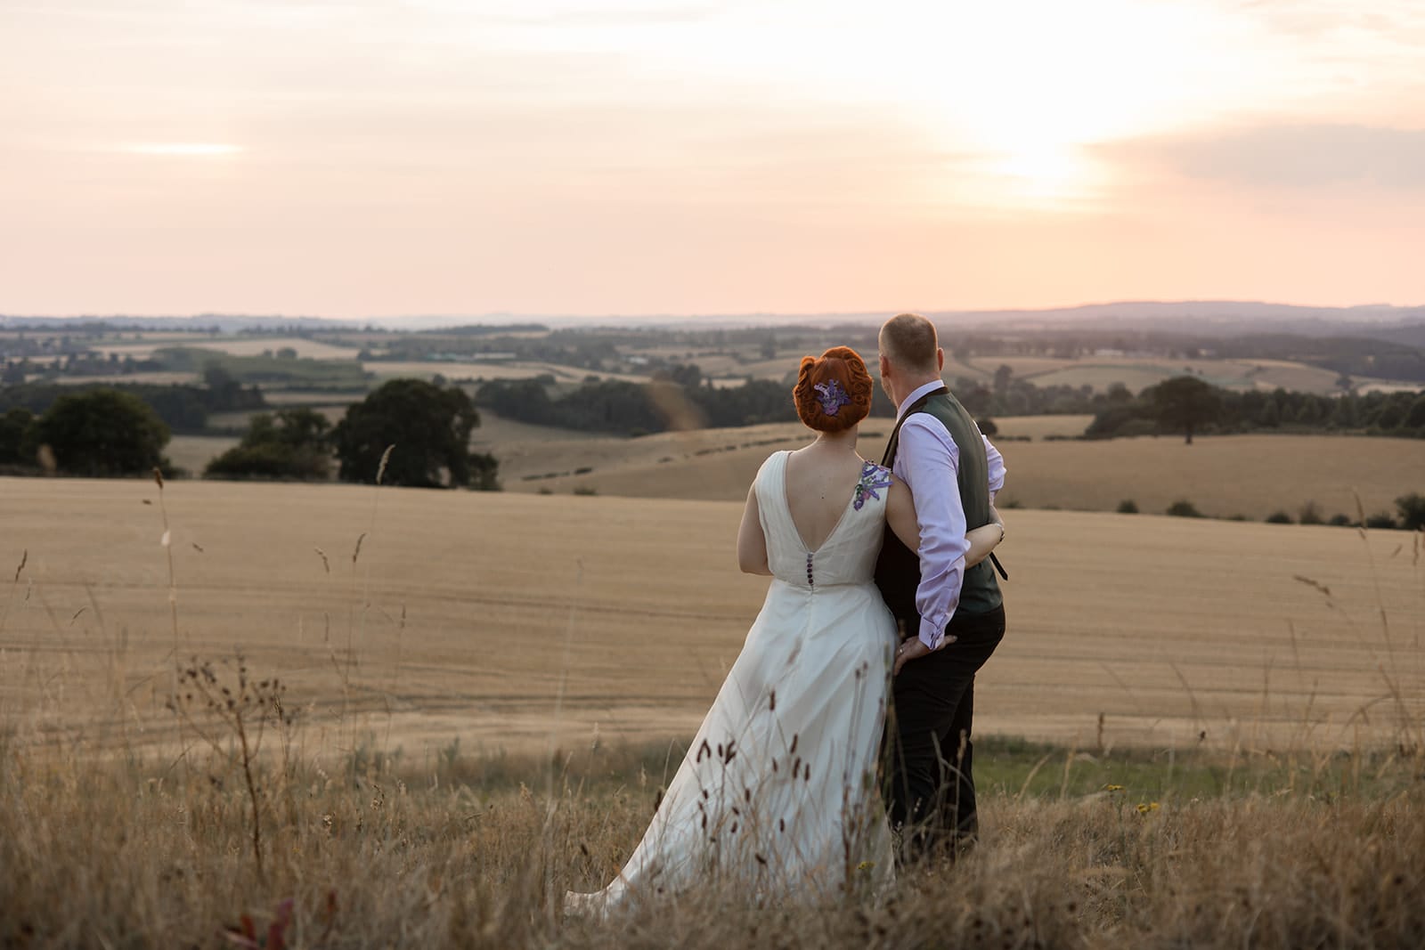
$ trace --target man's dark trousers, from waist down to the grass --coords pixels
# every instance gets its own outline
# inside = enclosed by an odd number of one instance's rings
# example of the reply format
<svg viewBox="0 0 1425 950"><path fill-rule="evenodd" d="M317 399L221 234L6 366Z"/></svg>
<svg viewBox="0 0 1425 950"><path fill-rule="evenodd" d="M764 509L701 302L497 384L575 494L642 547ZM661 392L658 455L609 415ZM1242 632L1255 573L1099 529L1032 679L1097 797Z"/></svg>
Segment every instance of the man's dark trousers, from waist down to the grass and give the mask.
<svg viewBox="0 0 1425 950"><path fill-rule="evenodd" d="M886 722L886 803L901 832L902 857L953 856L973 840L975 674L1005 637L1005 608L956 611L946 634L956 640L901 668Z"/></svg>

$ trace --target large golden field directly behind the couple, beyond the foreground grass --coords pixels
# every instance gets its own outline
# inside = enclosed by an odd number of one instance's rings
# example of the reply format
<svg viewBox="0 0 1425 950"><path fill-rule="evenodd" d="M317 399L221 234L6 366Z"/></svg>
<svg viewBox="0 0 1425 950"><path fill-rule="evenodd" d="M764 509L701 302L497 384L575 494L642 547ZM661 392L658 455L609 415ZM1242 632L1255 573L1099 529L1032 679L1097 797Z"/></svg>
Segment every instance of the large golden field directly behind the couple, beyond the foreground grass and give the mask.
<svg viewBox="0 0 1425 950"><path fill-rule="evenodd" d="M241 649L335 748L685 736L765 591L732 568L740 510L4 479L0 715L34 739L162 743L174 655ZM1425 714L1418 534L1027 510L1009 527L985 732L1348 746Z"/></svg>

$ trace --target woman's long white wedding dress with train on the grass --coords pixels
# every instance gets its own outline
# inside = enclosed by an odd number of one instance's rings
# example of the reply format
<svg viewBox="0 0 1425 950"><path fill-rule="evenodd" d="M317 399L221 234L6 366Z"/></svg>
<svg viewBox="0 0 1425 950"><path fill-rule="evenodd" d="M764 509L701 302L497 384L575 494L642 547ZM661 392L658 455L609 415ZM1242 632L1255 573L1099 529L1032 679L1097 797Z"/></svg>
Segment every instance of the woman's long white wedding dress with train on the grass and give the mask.
<svg viewBox="0 0 1425 950"><path fill-rule="evenodd" d="M772 580L643 840L618 877L566 910L731 887L752 899L834 896L889 882L876 789L895 622L872 573L889 473L866 463L819 548L787 504L787 457L757 474Z"/></svg>

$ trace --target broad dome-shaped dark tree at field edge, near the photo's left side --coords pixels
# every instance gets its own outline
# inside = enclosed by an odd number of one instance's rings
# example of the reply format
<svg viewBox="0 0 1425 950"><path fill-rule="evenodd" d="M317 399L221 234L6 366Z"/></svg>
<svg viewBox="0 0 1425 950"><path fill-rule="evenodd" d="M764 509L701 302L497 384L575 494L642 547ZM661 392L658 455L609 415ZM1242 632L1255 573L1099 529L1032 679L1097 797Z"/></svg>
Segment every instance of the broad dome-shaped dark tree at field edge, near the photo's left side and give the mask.
<svg viewBox="0 0 1425 950"><path fill-rule="evenodd" d="M138 396L90 389L60 396L34 423L60 471L91 477L144 474L167 467L168 426Z"/></svg>

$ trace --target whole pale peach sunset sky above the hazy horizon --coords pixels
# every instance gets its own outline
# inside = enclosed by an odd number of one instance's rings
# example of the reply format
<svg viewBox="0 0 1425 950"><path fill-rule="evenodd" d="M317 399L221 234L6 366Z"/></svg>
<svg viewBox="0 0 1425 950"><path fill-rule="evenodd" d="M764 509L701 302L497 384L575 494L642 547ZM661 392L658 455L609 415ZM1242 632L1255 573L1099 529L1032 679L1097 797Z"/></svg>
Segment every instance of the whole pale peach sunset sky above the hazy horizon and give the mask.
<svg viewBox="0 0 1425 950"><path fill-rule="evenodd" d="M0 0L0 313L1425 303L1425 0Z"/></svg>

